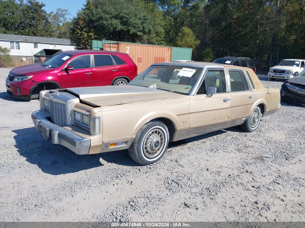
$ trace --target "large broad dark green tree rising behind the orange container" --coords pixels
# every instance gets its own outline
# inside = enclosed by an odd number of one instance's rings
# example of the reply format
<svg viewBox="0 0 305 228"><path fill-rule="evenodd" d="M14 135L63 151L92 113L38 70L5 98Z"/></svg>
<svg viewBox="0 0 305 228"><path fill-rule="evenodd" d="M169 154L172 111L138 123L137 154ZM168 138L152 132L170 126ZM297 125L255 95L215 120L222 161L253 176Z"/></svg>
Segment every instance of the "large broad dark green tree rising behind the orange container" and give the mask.
<svg viewBox="0 0 305 228"><path fill-rule="evenodd" d="M157 34L162 36L158 16L151 16L149 11L156 12L151 6L143 8L129 0L87 0L84 8L73 19L71 40L77 47L88 47L93 37L98 39L129 42L157 42ZM156 20L154 20L154 18ZM162 40L162 37L161 37Z"/></svg>

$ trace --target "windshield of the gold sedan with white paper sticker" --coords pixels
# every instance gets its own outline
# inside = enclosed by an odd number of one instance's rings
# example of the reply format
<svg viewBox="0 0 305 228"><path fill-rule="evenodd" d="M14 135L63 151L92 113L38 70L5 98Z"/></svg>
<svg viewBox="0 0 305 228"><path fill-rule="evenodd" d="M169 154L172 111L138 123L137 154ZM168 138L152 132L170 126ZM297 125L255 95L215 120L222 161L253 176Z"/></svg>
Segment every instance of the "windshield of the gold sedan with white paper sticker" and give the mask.
<svg viewBox="0 0 305 228"><path fill-rule="evenodd" d="M128 85L152 86L156 89L188 95L195 86L201 71L202 68L197 67L150 66L129 82Z"/></svg>

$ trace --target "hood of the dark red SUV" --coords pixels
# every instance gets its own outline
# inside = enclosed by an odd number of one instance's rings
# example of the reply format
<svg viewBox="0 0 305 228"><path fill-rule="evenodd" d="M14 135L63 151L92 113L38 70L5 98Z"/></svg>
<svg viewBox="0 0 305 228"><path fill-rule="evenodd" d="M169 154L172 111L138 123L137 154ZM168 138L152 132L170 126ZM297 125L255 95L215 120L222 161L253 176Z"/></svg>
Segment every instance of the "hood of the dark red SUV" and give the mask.
<svg viewBox="0 0 305 228"><path fill-rule="evenodd" d="M46 74L54 70L55 69L53 68L47 68L45 66L42 66L40 63L34 63L34 64L16 67L12 69L10 73L14 76L30 76L30 75Z"/></svg>

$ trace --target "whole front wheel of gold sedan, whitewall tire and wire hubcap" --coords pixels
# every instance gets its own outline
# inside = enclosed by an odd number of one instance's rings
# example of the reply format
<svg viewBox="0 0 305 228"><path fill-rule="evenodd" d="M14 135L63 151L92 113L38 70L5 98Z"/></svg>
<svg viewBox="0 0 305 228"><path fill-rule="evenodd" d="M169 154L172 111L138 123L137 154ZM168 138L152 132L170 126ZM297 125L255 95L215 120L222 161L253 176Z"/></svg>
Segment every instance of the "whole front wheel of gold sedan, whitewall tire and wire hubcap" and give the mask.
<svg viewBox="0 0 305 228"><path fill-rule="evenodd" d="M161 121L153 121L142 126L135 140L128 148L131 158L142 165L159 161L168 146L169 133Z"/></svg>

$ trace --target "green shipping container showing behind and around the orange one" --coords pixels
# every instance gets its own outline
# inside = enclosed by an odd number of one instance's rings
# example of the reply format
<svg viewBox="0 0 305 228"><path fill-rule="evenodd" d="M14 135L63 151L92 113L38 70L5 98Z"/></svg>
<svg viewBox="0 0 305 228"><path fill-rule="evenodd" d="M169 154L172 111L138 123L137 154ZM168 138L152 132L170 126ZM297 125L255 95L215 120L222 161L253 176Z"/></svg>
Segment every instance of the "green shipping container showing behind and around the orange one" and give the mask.
<svg viewBox="0 0 305 228"><path fill-rule="evenodd" d="M109 43L117 43L120 41L114 40L91 40L90 42L90 49L91 50L103 50L104 44ZM120 42L126 44L137 44L131 42ZM142 44L145 45L145 44ZM150 44L147 44L150 45ZM152 45L152 46L162 46L162 45ZM163 46L163 47L171 47L171 46ZM172 47L172 59L171 61L175 60L192 60L192 48L186 47Z"/></svg>

